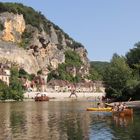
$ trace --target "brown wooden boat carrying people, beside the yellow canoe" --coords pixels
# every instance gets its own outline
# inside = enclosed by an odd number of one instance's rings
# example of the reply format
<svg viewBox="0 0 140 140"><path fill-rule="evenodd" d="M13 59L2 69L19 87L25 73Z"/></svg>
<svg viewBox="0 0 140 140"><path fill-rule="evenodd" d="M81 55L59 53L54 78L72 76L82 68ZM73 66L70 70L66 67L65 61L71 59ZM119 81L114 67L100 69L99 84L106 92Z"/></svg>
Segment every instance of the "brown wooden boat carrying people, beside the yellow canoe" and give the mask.
<svg viewBox="0 0 140 140"><path fill-rule="evenodd" d="M132 116L133 115L133 109L131 108L127 108L123 111L112 111L113 112L113 115L118 115L118 116L121 116L121 117L124 117L124 116Z"/></svg>

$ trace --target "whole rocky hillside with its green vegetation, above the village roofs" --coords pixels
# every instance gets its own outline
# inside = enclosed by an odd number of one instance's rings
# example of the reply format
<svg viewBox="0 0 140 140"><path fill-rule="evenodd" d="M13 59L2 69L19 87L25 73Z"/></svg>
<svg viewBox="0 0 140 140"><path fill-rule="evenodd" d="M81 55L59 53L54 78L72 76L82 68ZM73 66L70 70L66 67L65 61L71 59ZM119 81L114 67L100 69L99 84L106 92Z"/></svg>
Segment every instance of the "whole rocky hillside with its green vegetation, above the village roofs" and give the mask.
<svg viewBox="0 0 140 140"><path fill-rule="evenodd" d="M15 27L23 30L17 31ZM30 74L49 69L51 73L48 79L75 82L88 73L89 62L84 46L31 7L20 3L0 2L0 30L0 42L4 44L2 53L4 54L9 46L13 51L10 51L11 56L6 55L6 58L16 61L19 68L23 67ZM11 49L12 47L14 49ZM18 55L16 50L21 54L23 52L24 56ZM12 55L18 55L18 58L12 59ZM83 75L73 76L73 73L67 70L70 70L70 67L76 70L86 67L87 71L82 72ZM28 74L26 76L28 77Z"/></svg>

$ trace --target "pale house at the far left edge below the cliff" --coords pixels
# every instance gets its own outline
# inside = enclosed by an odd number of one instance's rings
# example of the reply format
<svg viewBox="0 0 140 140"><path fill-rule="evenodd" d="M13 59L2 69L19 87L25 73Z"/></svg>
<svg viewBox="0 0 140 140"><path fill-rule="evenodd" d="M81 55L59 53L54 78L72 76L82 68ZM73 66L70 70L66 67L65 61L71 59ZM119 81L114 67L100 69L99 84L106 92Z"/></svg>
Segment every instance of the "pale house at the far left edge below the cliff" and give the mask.
<svg viewBox="0 0 140 140"><path fill-rule="evenodd" d="M10 69L7 64L0 63L0 80L5 82L8 86L10 83Z"/></svg>

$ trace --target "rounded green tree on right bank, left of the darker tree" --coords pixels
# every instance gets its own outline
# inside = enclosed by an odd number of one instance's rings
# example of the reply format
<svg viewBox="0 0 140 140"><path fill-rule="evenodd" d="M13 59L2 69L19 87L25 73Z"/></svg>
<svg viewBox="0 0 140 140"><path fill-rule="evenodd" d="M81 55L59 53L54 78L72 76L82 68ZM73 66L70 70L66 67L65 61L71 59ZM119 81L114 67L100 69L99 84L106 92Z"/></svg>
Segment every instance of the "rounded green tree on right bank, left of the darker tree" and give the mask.
<svg viewBox="0 0 140 140"><path fill-rule="evenodd" d="M110 66L106 69L104 81L108 97L121 98L130 80L132 71L122 56L114 54Z"/></svg>

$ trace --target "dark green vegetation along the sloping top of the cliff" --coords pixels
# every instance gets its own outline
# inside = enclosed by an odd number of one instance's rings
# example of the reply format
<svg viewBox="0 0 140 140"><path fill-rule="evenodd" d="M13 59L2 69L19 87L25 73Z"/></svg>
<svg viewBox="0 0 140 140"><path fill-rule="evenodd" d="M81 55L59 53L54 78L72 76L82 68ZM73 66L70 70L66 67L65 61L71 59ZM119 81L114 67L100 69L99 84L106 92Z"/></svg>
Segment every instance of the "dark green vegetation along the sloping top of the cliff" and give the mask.
<svg viewBox="0 0 140 140"><path fill-rule="evenodd" d="M24 6L21 3L2 3L0 2L0 13L2 12L12 12L14 14L23 14L26 24L32 25L33 27L36 27L39 31L42 31L42 27L45 30L47 34L51 34L51 26L55 29L55 32L58 36L59 44L62 43L62 35L64 35L65 39L71 40L72 43L66 42L67 46L70 48L79 48L84 47L81 43L76 42L74 39L69 37L68 34L66 34L61 28L59 28L57 25L52 23L50 20L46 19L45 16L38 11L35 11L32 7ZM27 36L26 36L27 35ZM21 46L25 47L25 44L27 45L27 38L28 34L25 33L23 36L23 42ZM25 43L25 44L24 44Z"/></svg>

